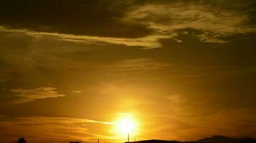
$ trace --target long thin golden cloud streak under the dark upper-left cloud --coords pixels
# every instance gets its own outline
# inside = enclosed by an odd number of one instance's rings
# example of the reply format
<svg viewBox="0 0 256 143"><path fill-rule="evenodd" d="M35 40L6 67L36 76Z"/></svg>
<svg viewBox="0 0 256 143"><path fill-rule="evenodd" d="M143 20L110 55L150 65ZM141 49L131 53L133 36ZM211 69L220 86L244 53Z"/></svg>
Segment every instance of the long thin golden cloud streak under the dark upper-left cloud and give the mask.
<svg viewBox="0 0 256 143"><path fill-rule="evenodd" d="M126 46L142 46L145 49L152 49L160 47L160 41L158 39L169 39L176 34L170 35L149 35L142 38L116 38L116 37L105 37L105 36L86 36L86 35L73 35L73 34L59 34L49 32L38 32L31 31L28 29L7 29L4 26L0 26L0 31L7 32L19 32L29 36L55 36L56 38L63 41L70 41L75 43L83 44L122 44Z"/></svg>

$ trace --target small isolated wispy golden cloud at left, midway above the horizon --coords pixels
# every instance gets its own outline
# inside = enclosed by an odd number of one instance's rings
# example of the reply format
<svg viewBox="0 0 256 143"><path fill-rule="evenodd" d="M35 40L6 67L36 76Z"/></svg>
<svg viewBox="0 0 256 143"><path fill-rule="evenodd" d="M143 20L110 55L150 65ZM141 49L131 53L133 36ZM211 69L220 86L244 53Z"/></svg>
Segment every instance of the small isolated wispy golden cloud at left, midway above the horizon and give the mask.
<svg viewBox="0 0 256 143"><path fill-rule="evenodd" d="M38 87L35 89L10 89L10 92L13 92L16 97L24 97L29 99L29 101L35 99L65 97L65 95L58 94L55 90L55 87Z"/></svg>

